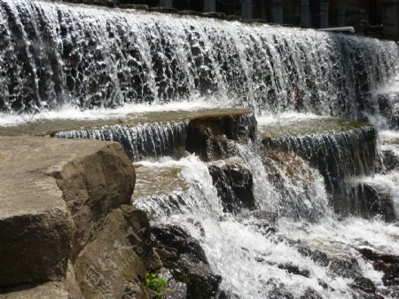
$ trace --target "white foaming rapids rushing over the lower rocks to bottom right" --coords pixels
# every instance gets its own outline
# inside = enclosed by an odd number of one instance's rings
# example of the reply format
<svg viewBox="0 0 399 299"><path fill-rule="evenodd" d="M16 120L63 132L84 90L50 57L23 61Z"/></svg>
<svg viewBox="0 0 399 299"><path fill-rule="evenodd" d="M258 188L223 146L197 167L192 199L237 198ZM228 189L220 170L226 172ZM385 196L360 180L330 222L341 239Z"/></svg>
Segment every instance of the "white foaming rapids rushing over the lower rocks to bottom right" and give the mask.
<svg viewBox="0 0 399 299"><path fill-rule="evenodd" d="M273 205L270 208L270 205L259 201L278 202L281 194L278 194L278 190L273 190L267 196L262 194L264 188L260 185L269 188L270 183L267 174L262 175L260 169L254 169L256 161L249 161L254 172L254 193L258 204L270 210ZM262 168L259 162L257 168ZM223 277L221 289L232 298L265 298L275 294L276 288L294 298L300 298L309 289L325 299L353 298L353 290L348 286L353 279L340 276L330 269L330 265L319 264L310 256L303 256L297 248L298 244L326 252L332 259L337 256L356 258L359 275L372 279L380 288L383 288L380 280L382 273L365 263L353 247L368 246L381 252L399 253L399 228L393 224L356 217L338 221L325 211L320 221L314 224L282 217L278 221L278 232L273 234L262 229L264 220L250 216L247 212L239 216L223 213L207 165L196 156L191 155L179 161L163 159L162 162L144 163L147 167L175 165L182 168L181 176L191 185L194 202L190 203L190 209L181 209L168 215L162 215L162 209L154 205L155 201L151 198L138 201L137 207L149 212L157 209L159 213L153 221L181 225L192 237L200 240L211 268ZM261 174L261 177L256 177L256 174ZM290 188L289 185L286 187ZM321 196L326 196L322 183L317 184L315 190L321 192ZM286 271L284 265L294 265L306 271L307 277Z"/></svg>

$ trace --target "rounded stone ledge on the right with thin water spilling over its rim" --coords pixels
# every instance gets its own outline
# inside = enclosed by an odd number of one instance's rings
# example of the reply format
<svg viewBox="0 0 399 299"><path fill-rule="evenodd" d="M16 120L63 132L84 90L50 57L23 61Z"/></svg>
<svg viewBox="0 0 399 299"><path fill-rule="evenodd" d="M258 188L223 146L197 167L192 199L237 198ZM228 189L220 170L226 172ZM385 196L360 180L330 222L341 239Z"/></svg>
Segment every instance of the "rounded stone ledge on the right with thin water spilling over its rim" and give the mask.
<svg viewBox="0 0 399 299"><path fill-rule="evenodd" d="M369 216L352 181L378 167L378 132L371 124L317 117L264 123L258 130L265 151L295 153L320 171L335 212Z"/></svg>

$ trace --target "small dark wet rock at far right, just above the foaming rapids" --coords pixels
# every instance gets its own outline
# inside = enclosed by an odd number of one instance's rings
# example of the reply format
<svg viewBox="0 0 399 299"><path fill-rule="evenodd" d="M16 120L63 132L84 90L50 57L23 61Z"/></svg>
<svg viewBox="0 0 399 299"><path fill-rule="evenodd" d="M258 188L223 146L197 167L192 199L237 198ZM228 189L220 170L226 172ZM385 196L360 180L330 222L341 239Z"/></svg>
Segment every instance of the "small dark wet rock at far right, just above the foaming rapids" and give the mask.
<svg viewBox="0 0 399 299"><path fill-rule="evenodd" d="M395 207L390 193L370 184L359 185L359 189L359 197L366 202L370 216L380 216L387 222L395 221Z"/></svg>

